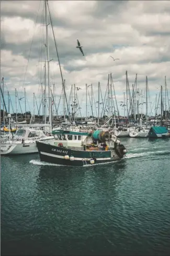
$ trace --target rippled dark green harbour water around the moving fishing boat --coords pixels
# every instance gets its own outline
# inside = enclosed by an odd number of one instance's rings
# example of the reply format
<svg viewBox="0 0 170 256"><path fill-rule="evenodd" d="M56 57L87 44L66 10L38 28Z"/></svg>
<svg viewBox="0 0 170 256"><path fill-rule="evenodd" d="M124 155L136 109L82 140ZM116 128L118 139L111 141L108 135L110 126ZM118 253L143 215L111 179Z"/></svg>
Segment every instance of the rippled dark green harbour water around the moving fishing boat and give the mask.
<svg viewBox="0 0 170 256"><path fill-rule="evenodd" d="M2 156L1 254L169 255L170 140L121 142L109 165Z"/></svg>

